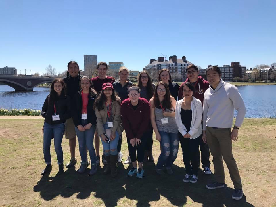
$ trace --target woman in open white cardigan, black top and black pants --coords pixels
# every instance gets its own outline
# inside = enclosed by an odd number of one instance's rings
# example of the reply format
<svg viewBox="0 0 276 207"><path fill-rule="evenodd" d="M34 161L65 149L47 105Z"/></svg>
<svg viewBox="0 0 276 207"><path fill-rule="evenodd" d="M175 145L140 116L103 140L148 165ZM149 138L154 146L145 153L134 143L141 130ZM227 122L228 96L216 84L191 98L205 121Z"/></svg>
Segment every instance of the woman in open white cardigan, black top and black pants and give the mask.
<svg viewBox="0 0 276 207"><path fill-rule="evenodd" d="M201 139L202 104L193 94L195 87L185 82L183 85L183 99L177 101L175 106L175 119L178 127L179 140L182 148L183 162L186 175L183 182L196 183L200 156L198 146Z"/></svg>

